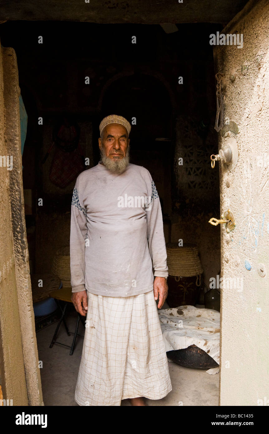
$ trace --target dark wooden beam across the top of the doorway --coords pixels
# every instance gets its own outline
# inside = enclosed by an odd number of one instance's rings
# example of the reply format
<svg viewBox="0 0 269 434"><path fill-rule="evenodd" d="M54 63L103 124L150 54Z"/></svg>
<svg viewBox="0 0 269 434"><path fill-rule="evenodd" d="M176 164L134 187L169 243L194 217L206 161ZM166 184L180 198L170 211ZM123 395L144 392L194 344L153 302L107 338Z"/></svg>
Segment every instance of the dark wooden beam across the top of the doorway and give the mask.
<svg viewBox="0 0 269 434"><path fill-rule="evenodd" d="M0 22L228 23L247 0L1 0Z"/></svg>

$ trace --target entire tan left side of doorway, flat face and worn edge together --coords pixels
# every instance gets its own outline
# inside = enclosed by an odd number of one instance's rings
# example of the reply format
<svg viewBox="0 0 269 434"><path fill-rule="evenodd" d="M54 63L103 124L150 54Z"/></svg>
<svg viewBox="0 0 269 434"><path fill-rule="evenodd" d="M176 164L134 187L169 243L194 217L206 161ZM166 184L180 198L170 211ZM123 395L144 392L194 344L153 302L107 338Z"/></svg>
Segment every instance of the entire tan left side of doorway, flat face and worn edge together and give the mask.
<svg viewBox="0 0 269 434"><path fill-rule="evenodd" d="M1 47L0 384L3 399L36 406L43 401L24 214L19 95L16 53Z"/></svg>

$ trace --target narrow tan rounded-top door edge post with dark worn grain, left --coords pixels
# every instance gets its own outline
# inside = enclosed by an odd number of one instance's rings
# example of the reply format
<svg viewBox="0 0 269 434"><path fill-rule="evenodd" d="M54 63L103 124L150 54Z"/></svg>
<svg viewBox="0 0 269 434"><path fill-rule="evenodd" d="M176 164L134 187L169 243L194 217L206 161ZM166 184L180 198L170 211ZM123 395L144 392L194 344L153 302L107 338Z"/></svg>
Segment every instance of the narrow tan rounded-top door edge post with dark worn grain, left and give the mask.
<svg viewBox="0 0 269 434"><path fill-rule="evenodd" d="M24 362L24 372L23 376L21 375L20 381L22 381L22 383L26 381L29 405L42 405L41 380L38 368L38 353L29 275L29 253L24 215L18 69L16 54L13 49L3 48L3 56L5 141L7 154L13 155L13 170L9 171L9 189L13 231L13 255ZM13 332L13 328L14 326L10 328L9 333ZM11 334L9 335L9 339L10 336ZM16 372L16 368L13 375L19 375Z"/></svg>

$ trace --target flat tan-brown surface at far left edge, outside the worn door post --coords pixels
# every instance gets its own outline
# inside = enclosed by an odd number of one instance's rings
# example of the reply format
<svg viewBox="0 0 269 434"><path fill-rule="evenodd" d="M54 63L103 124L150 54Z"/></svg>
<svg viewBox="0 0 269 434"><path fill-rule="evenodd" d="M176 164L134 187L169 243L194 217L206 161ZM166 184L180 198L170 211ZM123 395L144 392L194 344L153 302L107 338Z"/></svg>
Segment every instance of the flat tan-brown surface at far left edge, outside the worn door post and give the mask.
<svg viewBox="0 0 269 434"><path fill-rule="evenodd" d="M4 125L3 59L0 49L0 155L7 155ZM13 233L10 220L9 171L0 167L0 384L3 398L27 405L23 349L20 334ZM12 336L12 339L10 339Z"/></svg>

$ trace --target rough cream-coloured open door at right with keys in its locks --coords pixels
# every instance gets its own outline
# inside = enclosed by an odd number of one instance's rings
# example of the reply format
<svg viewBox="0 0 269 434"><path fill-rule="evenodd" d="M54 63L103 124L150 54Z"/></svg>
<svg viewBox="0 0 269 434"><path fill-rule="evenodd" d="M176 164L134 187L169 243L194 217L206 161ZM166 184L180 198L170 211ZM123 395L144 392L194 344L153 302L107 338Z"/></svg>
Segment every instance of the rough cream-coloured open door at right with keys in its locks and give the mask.
<svg viewBox="0 0 269 434"><path fill-rule="evenodd" d="M222 32L243 33L243 48L215 48L224 115L239 128L237 166L220 165L221 211L230 208L237 223L229 234L221 227L221 267L224 278L243 279L243 290L241 280L222 290L220 405L254 406L269 391L269 2L255 3ZM226 141L219 134L219 147Z"/></svg>

